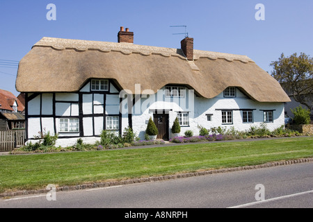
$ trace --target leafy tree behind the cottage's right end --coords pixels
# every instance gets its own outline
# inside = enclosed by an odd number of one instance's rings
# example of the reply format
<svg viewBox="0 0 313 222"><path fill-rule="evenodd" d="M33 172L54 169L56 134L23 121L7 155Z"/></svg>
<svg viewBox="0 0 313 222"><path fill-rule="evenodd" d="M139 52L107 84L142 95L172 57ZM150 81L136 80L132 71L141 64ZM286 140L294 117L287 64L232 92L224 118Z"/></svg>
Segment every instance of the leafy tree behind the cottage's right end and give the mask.
<svg viewBox="0 0 313 222"><path fill-rule="evenodd" d="M284 90L294 96L294 100L312 110L313 94L313 58L305 53L292 54L284 57L284 53L278 61L272 61L273 76L282 85Z"/></svg>

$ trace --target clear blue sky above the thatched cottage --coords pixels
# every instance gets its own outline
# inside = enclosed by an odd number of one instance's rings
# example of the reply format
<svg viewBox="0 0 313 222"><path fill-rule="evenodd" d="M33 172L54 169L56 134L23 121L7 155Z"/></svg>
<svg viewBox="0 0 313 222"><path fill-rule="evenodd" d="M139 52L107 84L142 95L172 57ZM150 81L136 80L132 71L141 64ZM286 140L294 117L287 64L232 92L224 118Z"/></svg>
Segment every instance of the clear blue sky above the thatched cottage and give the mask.
<svg viewBox="0 0 313 222"><path fill-rule="evenodd" d="M47 20L47 5L56 5L56 21ZM257 3L265 20L257 21ZM42 37L117 42L120 26L134 31L134 44L180 48L186 25L194 48L246 55L270 72L281 53L313 56L312 0L1 0L0 89L15 89L14 65ZM4 60L12 60L3 66ZM1 63L2 61L2 63ZM10 61L4 61L10 62Z"/></svg>

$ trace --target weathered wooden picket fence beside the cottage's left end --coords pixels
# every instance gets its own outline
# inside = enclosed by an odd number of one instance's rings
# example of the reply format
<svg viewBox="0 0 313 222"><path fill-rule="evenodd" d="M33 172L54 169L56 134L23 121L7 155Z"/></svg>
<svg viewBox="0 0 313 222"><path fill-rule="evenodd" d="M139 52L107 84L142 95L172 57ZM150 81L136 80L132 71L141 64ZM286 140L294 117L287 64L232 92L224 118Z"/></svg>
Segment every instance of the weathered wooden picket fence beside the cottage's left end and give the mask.
<svg viewBox="0 0 313 222"><path fill-rule="evenodd" d="M25 130L0 131L0 152L12 151L13 148L23 146Z"/></svg>

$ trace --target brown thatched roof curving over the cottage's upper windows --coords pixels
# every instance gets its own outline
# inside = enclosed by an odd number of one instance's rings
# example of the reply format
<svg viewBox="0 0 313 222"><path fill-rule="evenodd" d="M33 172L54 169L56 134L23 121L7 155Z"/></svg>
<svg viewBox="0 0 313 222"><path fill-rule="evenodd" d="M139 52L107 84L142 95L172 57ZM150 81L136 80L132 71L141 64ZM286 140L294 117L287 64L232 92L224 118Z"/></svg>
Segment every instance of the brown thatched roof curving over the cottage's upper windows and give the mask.
<svg viewBox="0 0 313 222"><path fill-rule="evenodd" d="M109 78L121 89L154 92L179 84L213 98L226 87L239 87L260 102L290 101L280 84L247 56L194 50L194 61L181 49L129 43L43 37L19 62L19 92L77 92L90 78Z"/></svg>

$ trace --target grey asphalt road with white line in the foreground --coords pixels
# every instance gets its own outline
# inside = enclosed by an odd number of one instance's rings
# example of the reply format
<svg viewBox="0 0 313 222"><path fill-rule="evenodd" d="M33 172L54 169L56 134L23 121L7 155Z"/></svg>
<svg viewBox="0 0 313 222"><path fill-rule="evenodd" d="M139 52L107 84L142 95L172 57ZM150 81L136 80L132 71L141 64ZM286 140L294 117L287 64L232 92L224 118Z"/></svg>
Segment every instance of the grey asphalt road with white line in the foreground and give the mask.
<svg viewBox="0 0 313 222"><path fill-rule="evenodd" d="M256 189L256 186L261 188ZM263 198L265 200L256 200ZM313 208L313 162L1 199L0 208ZM179 210L179 209L176 209Z"/></svg>

